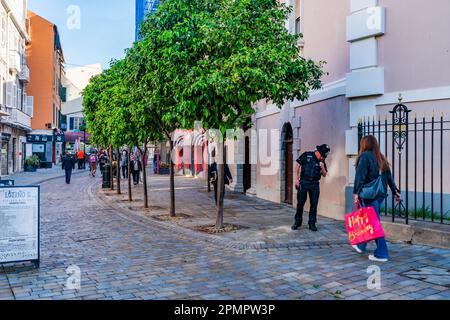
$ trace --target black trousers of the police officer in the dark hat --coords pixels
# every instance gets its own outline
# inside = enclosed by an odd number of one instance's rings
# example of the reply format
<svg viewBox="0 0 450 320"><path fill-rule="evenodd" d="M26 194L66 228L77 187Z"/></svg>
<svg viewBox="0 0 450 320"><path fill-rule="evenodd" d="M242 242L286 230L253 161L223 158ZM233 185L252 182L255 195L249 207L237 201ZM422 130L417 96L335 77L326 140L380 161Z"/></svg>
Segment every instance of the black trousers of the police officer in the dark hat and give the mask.
<svg viewBox="0 0 450 320"><path fill-rule="evenodd" d="M309 196L309 224L317 222L317 205L319 204L320 187L318 181L300 181L297 191L297 213L295 214L295 222L301 224L303 222L303 211L306 199Z"/></svg>

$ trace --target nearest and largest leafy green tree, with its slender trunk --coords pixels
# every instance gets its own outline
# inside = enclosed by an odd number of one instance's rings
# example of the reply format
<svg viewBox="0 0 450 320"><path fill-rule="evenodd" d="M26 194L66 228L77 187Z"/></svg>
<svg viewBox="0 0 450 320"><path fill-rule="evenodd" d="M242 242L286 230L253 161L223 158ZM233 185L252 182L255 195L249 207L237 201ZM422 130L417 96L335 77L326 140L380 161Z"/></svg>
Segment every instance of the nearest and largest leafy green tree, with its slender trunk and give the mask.
<svg viewBox="0 0 450 320"><path fill-rule="evenodd" d="M201 120L225 135L247 122L257 101L282 107L320 88L321 63L300 56L299 36L285 28L289 13L276 0L164 1L144 29L158 60L151 66L158 70L152 79L170 92L178 125L192 127ZM216 152L217 229L223 228L224 148Z"/></svg>

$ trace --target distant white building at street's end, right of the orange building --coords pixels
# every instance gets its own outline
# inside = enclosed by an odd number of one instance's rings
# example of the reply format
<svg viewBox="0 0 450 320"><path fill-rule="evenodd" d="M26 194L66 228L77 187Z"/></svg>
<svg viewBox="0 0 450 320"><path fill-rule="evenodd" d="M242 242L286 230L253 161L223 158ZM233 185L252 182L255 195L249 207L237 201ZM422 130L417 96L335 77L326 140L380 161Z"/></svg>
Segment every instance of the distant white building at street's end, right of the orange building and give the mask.
<svg viewBox="0 0 450 320"><path fill-rule="evenodd" d="M90 79L100 73L102 73L101 64L71 68L65 72L63 86L66 88L67 99L62 104L62 114L66 150L73 152L79 147L84 148L85 142L89 140L90 135L83 131L82 92Z"/></svg>

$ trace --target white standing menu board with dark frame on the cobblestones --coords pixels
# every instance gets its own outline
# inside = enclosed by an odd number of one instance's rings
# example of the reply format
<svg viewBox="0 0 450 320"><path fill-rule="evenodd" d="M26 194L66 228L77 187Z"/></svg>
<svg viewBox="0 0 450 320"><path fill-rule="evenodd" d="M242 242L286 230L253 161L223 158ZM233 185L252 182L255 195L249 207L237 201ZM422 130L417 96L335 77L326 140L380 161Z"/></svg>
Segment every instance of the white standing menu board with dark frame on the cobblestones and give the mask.
<svg viewBox="0 0 450 320"><path fill-rule="evenodd" d="M39 267L40 188L0 187L0 264Z"/></svg>

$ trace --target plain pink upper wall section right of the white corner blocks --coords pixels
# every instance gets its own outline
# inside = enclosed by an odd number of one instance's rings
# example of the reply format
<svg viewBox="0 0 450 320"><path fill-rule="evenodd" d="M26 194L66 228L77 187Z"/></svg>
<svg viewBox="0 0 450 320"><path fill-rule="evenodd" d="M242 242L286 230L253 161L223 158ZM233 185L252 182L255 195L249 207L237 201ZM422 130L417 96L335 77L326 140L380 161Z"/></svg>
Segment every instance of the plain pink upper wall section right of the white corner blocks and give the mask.
<svg viewBox="0 0 450 320"><path fill-rule="evenodd" d="M386 92L450 85L448 0L380 0L386 34L378 40Z"/></svg>

